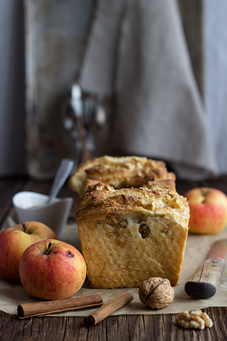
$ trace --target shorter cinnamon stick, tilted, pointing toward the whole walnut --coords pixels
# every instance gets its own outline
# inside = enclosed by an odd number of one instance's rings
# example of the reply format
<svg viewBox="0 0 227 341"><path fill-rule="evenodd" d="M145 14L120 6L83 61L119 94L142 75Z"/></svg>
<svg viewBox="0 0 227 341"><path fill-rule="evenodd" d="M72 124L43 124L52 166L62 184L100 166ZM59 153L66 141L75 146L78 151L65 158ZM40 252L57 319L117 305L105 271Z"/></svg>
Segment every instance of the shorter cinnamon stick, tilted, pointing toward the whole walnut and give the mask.
<svg viewBox="0 0 227 341"><path fill-rule="evenodd" d="M116 310L126 306L134 299L133 294L127 291L116 298L110 300L108 303L104 304L101 308L94 311L92 314L85 317L84 322L88 326L97 324L98 322L104 320L107 316L115 312Z"/></svg>

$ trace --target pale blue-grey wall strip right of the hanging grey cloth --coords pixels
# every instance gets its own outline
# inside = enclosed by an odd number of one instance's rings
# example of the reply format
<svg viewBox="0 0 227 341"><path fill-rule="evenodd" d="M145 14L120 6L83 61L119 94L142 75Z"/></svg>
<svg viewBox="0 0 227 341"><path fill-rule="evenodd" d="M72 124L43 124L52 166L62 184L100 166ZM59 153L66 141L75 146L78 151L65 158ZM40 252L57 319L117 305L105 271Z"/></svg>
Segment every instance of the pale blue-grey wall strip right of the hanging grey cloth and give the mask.
<svg viewBox="0 0 227 341"><path fill-rule="evenodd" d="M204 100L219 172L227 173L227 2L203 0Z"/></svg>

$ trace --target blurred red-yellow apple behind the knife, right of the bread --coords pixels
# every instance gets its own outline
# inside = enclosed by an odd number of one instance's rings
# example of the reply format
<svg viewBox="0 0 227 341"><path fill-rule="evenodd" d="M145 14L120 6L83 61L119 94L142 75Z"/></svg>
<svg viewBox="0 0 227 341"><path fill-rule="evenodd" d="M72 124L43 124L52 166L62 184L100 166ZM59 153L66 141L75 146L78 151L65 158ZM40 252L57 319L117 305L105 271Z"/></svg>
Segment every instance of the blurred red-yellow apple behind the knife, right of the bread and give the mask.
<svg viewBox="0 0 227 341"><path fill-rule="evenodd" d="M227 224L227 197L219 189L198 187L185 193L189 202L189 232L218 233Z"/></svg>

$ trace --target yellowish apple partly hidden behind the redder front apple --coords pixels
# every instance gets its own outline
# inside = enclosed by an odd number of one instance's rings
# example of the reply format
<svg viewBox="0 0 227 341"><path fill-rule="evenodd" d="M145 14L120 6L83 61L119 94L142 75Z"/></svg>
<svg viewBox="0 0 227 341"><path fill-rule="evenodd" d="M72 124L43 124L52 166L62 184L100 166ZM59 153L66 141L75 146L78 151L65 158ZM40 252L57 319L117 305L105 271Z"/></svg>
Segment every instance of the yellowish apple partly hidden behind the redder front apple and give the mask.
<svg viewBox="0 0 227 341"><path fill-rule="evenodd" d="M48 238L57 239L46 225L28 221L8 227L0 233L0 273L15 282L20 281L19 264L23 252L34 242Z"/></svg>

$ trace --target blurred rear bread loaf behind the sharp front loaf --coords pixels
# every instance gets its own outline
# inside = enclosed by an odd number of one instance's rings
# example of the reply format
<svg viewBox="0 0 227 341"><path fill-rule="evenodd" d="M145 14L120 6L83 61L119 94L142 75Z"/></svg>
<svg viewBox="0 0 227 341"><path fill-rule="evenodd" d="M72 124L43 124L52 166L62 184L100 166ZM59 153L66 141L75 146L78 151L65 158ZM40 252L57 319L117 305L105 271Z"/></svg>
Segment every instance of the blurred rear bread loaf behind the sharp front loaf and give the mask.
<svg viewBox="0 0 227 341"><path fill-rule="evenodd" d="M103 182L120 188L147 187L166 191L175 189L176 176L163 161L145 157L102 156L82 163L69 179L69 187L81 197L89 185Z"/></svg>

